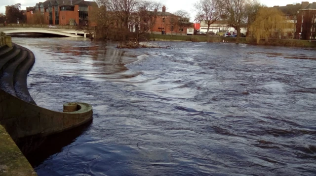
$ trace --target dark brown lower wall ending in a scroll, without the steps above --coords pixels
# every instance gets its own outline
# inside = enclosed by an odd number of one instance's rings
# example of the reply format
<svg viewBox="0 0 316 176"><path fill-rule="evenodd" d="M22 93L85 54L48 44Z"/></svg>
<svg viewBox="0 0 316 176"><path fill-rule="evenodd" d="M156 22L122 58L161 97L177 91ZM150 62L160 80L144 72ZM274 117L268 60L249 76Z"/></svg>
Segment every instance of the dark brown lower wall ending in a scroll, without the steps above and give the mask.
<svg viewBox="0 0 316 176"><path fill-rule="evenodd" d="M56 112L25 102L0 89L0 122L16 140L62 132L92 119L92 106L77 103L75 112Z"/></svg>

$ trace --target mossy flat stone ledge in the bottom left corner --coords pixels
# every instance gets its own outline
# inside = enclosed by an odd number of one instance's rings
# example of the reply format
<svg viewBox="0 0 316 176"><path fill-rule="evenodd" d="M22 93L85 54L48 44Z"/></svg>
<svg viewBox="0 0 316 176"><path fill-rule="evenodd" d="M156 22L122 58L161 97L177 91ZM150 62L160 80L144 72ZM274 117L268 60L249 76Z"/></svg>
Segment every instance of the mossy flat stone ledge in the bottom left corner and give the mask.
<svg viewBox="0 0 316 176"><path fill-rule="evenodd" d="M1 125L0 176L37 176L31 164Z"/></svg>

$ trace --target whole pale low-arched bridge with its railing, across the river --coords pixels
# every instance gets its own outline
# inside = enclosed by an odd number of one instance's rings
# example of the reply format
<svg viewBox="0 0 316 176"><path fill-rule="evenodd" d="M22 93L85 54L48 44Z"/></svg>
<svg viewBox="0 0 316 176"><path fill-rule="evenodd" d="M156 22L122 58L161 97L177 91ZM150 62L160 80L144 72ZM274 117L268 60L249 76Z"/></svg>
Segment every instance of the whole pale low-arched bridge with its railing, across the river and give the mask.
<svg viewBox="0 0 316 176"><path fill-rule="evenodd" d="M88 33L76 29L57 29L57 28L23 28L23 27L0 27L0 32L4 33L49 33L67 37L86 37ZM81 35L80 35L81 34ZM92 36L93 37L93 36Z"/></svg>

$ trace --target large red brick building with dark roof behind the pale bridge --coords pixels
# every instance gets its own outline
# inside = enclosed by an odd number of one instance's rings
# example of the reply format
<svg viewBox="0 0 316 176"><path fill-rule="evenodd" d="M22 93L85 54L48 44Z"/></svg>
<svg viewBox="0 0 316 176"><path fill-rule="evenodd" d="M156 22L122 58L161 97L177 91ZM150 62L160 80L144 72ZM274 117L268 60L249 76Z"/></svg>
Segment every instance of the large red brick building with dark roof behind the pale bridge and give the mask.
<svg viewBox="0 0 316 176"><path fill-rule="evenodd" d="M84 0L46 0L34 7L26 8L27 23L31 24L36 14L43 16L47 25L75 25L88 23L94 1Z"/></svg>

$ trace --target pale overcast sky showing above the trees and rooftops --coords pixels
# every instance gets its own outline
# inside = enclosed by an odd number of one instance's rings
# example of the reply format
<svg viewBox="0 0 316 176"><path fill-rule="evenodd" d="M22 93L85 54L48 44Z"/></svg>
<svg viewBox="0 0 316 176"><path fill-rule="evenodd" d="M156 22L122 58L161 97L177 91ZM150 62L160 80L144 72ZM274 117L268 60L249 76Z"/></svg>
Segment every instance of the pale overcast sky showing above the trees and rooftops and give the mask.
<svg viewBox="0 0 316 176"><path fill-rule="evenodd" d="M39 1L43 2L44 0L0 0L0 13L5 12L4 6L6 5L21 3L22 9L25 10L26 7L35 6L35 4ZM92 1L92 0L89 0L89 1ZM191 19L194 18L193 3L196 2L197 0L156 0L156 1L159 1L162 4L164 4L168 12L173 13L177 10L182 9L182 10L188 11L191 14ZM298 0L259 0L259 1L269 7L274 6L274 5L284 6L286 4L301 3L301 1L298 1ZM304 1L313 2L316 0L304 0Z"/></svg>

